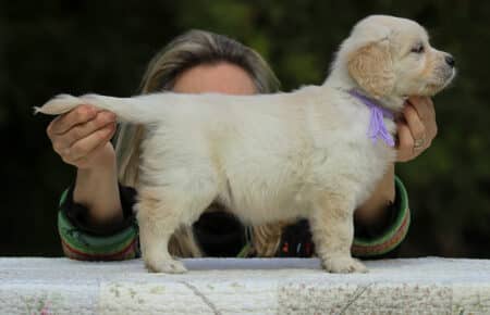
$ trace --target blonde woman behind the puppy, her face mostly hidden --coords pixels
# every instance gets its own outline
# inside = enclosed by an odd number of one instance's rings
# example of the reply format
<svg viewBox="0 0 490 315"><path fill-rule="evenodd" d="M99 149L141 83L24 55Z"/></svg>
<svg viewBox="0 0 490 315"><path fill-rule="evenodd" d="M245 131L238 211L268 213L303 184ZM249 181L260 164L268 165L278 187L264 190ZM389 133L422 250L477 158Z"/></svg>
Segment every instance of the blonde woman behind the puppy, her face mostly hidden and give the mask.
<svg viewBox="0 0 490 315"><path fill-rule="evenodd" d="M272 93L274 74L254 50L228 37L192 30L171 41L149 63L142 92ZM433 104L412 98L399 126L397 161L413 160L437 133ZM138 179L143 126L121 124L115 116L81 105L54 118L47 128L54 151L77 168L76 180L60 201L58 227L62 249L76 260L124 260L140 255L132 205ZM404 239L409 210L394 165L372 196L355 212L352 253L372 257L393 252ZM169 243L171 254L189 256L313 256L308 222L278 222L244 226L222 205L213 203L192 227L182 227Z"/></svg>

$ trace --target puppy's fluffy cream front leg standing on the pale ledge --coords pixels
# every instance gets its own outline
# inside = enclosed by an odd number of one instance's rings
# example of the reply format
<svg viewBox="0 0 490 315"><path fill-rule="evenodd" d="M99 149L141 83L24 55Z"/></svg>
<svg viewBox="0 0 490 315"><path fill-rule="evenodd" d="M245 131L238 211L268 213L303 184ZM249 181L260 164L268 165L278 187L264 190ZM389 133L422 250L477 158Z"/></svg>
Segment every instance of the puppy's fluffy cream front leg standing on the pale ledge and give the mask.
<svg viewBox="0 0 490 315"><path fill-rule="evenodd" d="M331 273L367 273L366 266L351 256L354 239L354 206L350 196L324 193L309 218L317 255Z"/></svg>

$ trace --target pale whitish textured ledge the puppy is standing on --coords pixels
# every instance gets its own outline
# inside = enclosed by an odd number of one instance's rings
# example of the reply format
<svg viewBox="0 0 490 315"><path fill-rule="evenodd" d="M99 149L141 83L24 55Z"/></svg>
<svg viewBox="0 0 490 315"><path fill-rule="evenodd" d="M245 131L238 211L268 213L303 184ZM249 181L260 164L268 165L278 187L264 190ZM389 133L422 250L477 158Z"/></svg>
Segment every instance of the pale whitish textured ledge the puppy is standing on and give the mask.
<svg viewBox="0 0 490 315"><path fill-rule="evenodd" d="M1 257L0 314L490 314L490 261L367 262L334 275L316 259L184 260L184 275L142 260Z"/></svg>

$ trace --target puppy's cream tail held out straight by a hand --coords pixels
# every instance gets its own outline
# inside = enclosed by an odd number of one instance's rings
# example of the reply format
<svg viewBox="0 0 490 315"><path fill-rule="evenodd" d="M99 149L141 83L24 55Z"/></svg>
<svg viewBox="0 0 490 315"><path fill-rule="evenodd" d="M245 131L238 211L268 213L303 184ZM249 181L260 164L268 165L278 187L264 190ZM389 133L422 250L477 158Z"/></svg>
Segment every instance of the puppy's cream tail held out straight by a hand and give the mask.
<svg viewBox="0 0 490 315"><path fill-rule="evenodd" d="M138 98L112 98L98 94L85 94L76 98L70 94L59 94L42 106L35 106L34 114L60 115L78 105L90 104L113 112L120 122L147 124L159 121L158 113L147 110L148 106L138 106Z"/></svg>

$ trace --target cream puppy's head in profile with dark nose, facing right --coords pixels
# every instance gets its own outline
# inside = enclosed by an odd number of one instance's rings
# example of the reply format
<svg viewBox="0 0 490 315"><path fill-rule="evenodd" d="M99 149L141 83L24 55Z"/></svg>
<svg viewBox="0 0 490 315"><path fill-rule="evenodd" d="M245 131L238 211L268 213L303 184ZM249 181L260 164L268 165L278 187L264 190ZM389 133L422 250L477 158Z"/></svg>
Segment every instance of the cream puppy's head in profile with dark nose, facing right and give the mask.
<svg viewBox="0 0 490 315"><path fill-rule="evenodd" d="M387 15L362 20L343 42L334 67L339 62L376 99L433 96L455 76L454 59L432 48L420 25ZM400 110L401 104L393 106Z"/></svg>

